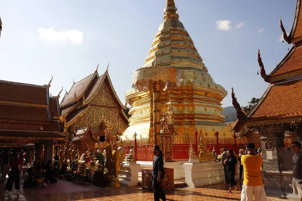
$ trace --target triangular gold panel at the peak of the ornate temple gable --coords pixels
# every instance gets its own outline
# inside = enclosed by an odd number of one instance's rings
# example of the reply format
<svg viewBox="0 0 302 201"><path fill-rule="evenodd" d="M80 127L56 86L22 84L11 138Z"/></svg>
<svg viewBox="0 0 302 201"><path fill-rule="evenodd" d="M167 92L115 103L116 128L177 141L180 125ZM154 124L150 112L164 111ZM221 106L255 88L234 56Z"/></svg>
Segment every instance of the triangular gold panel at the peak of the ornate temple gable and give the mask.
<svg viewBox="0 0 302 201"><path fill-rule="evenodd" d="M102 84L98 94L93 98L90 104L117 107L105 83Z"/></svg>

